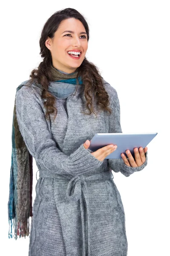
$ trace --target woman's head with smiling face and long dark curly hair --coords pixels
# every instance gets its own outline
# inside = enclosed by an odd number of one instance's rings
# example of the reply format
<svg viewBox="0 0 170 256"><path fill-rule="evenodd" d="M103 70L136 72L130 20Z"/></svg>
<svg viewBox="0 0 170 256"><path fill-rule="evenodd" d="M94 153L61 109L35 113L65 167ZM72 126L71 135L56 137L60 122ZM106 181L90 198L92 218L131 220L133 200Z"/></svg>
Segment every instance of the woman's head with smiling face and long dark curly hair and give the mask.
<svg viewBox="0 0 170 256"><path fill-rule="evenodd" d="M31 72L31 79L28 84L33 82L42 85L42 99L46 102L45 117L50 118L50 114L56 113L57 108L54 105L55 98L48 90L50 81L54 81L53 68L62 70L65 73L76 74L81 77L85 90L85 103L89 113L95 113L93 97L97 105L105 111L111 113L108 107L108 93L103 87L102 76L99 74L98 68L89 62L85 54L88 49L89 28L85 18L72 8L63 9L55 12L45 23L40 38L40 54L44 60L40 63L38 69ZM70 54L68 54L68 52ZM80 52L74 56L74 52ZM51 69L51 67L53 67Z"/></svg>

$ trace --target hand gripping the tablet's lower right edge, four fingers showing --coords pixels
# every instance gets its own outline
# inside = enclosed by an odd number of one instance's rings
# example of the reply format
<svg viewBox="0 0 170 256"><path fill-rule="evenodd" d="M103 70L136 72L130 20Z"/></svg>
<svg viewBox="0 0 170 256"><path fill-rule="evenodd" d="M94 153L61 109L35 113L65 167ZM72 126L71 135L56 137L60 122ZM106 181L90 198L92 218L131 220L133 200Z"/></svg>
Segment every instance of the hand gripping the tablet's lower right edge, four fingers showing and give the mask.
<svg viewBox="0 0 170 256"><path fill-rule="evenodd" d="M130 150L127 150L126 151L126 154L127 154L127 157L125 156L125 154L121 154L121 157L122 159L124 160L124 163L127 165L127 166L130 166L130 167L138 167L138 166L141 166L144 162L145 162L145 153L147 151L147 147L145 147L144 149L141 147L139 148L134 148L134 154L135 154L135 160L132 156L132 154L130 153Z"/></svg>

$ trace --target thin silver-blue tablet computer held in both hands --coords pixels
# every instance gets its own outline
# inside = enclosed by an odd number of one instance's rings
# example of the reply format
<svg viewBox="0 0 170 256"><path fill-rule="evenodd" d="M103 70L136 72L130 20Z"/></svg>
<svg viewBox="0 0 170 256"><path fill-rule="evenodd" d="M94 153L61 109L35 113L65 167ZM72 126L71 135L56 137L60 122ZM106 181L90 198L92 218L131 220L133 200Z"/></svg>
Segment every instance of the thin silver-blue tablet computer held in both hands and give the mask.
<svg viewBox="0 0 170 256"><path fill-rule="evenodd" d="M90 140L88 149L96 151L99 148L113 144L117 145L116 151L109 154L105 159L122 158L124 153L127 157L126 150L129 149L133 158L135 158L134 148L145 148L151 140L157 135L157 132L150 133L98 133Z"/></svg>

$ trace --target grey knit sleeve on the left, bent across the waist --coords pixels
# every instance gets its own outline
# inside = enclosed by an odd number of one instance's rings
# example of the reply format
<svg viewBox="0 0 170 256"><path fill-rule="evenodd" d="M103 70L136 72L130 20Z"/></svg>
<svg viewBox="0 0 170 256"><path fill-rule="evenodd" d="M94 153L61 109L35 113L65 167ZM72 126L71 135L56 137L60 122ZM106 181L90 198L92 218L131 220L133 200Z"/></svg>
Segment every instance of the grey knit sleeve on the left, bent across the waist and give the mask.
<svg viewBox="0 0 170 256"><path fill-rule="evenodd" d="M39 99L31 87L20 88L16 93L16 114L21 135L37 166L61 175L80 175L99 167L98 160L83 144L70 156L57 148L45 119Z"/></svg>

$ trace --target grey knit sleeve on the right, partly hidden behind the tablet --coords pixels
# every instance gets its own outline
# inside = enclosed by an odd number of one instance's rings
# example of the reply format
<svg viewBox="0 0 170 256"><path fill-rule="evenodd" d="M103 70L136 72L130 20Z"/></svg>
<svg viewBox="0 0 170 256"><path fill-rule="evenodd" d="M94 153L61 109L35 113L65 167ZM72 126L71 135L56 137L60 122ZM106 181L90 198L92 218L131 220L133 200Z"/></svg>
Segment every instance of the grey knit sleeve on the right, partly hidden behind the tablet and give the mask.
<svg viewBox="0 0 170 256"><path fill-rule="evenodd" d="M112 113L109 116L109 133L122 133L120 125L120 105L116 90L115 95L113 96L111 109ZM108 159L108 167L114 172L121 172L123 175L128 177L134 172L139 172L144 169L147 165L147 152L145 153L145 157L145 162L141 166L137 167L127 166L122 158Z"/></svg>

